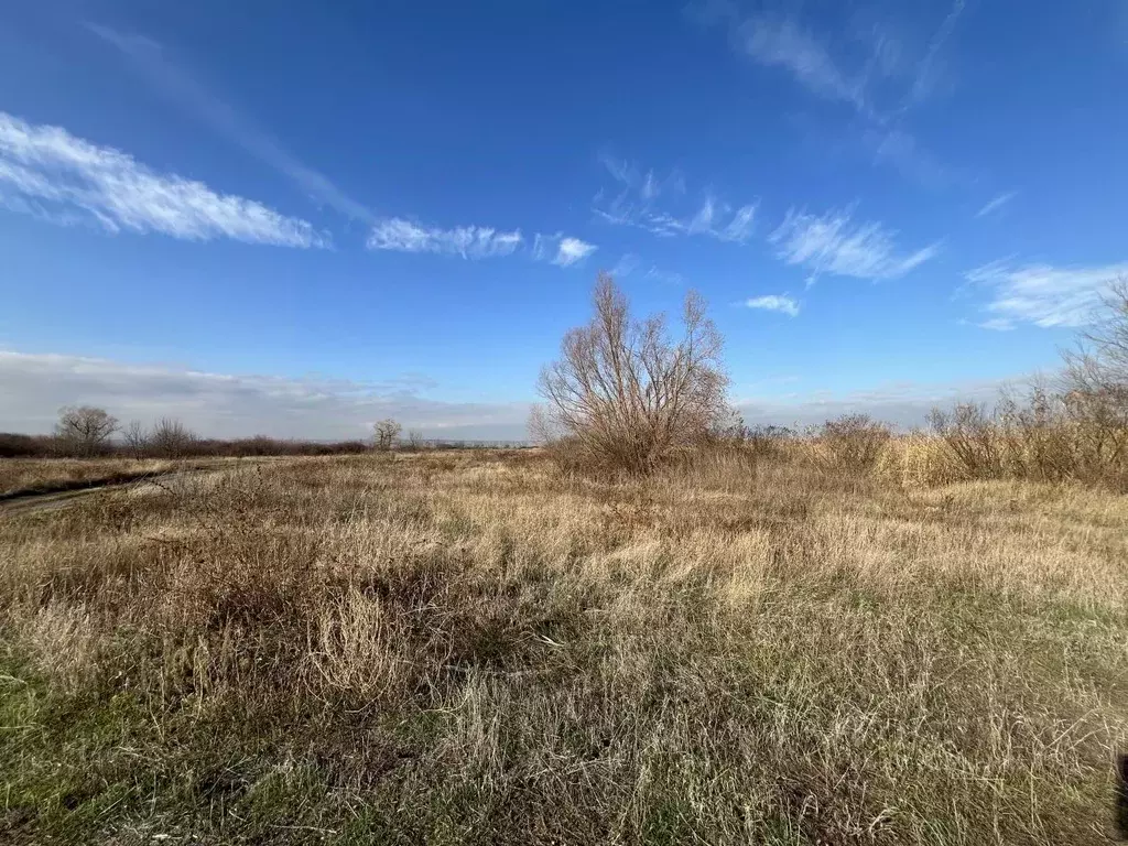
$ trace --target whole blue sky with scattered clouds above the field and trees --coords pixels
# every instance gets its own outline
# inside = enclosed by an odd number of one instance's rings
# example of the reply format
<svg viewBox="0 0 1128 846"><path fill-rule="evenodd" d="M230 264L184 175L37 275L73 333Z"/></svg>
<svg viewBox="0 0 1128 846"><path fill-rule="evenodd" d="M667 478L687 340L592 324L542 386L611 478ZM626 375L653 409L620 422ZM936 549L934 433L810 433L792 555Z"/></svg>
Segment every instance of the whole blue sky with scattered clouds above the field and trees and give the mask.
<svg viewBox="0 0 1128 846"><path fill-rule="evenodd" d="M9 5L0 428L515 437L599 270L911 421L1128 272L1126 78L1117 0Z"/></svg>

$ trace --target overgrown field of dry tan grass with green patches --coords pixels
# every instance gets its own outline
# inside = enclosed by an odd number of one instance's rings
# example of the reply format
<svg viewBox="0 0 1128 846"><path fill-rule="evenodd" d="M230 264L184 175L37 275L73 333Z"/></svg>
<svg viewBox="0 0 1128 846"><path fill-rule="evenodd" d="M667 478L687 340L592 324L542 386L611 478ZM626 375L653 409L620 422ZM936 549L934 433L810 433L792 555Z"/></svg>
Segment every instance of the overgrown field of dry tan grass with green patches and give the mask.
<svg viewBox="0 0 1128 846"><path fill-rule="evenodd" d="M0 841L1108 843L1126 585L1122 496L740 450L0 511Z"/></svg>

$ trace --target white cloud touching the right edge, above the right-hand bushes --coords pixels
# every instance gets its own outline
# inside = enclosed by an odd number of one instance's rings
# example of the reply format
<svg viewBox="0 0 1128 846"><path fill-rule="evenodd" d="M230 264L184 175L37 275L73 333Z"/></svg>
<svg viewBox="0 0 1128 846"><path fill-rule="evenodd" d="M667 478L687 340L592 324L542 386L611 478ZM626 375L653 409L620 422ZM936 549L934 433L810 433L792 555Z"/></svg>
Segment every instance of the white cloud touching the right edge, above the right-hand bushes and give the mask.
<svg viewBox="0 0 1128 846"><path fill-rule="evenodd" d="M1004 259L964 274L968 282L990 290L992 299L984 308L993 317L982 325L993 329L1022 323L1042 328L1084 326L1109 284L1121 276L1128 276L1128 262L1098 267L1014 267Z"/></svg>

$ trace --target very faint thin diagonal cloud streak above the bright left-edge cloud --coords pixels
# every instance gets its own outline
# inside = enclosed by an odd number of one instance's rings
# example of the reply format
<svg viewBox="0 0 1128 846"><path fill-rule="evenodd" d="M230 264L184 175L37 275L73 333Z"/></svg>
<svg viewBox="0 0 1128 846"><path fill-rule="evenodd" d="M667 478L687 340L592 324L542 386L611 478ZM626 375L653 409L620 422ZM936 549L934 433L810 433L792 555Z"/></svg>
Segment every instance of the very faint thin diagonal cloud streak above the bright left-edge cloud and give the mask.
<svg viewBox="0 0 1128 846"><path fill-rule="evenodd" d="M355 220L376 222L376 215L362 203L349 196L324 174L303 165L268 133L171 61L161 44L144 35L126 35L99 24L89 24L88 28L125 56L146 83L277 170L315 201Z"/></svg>

